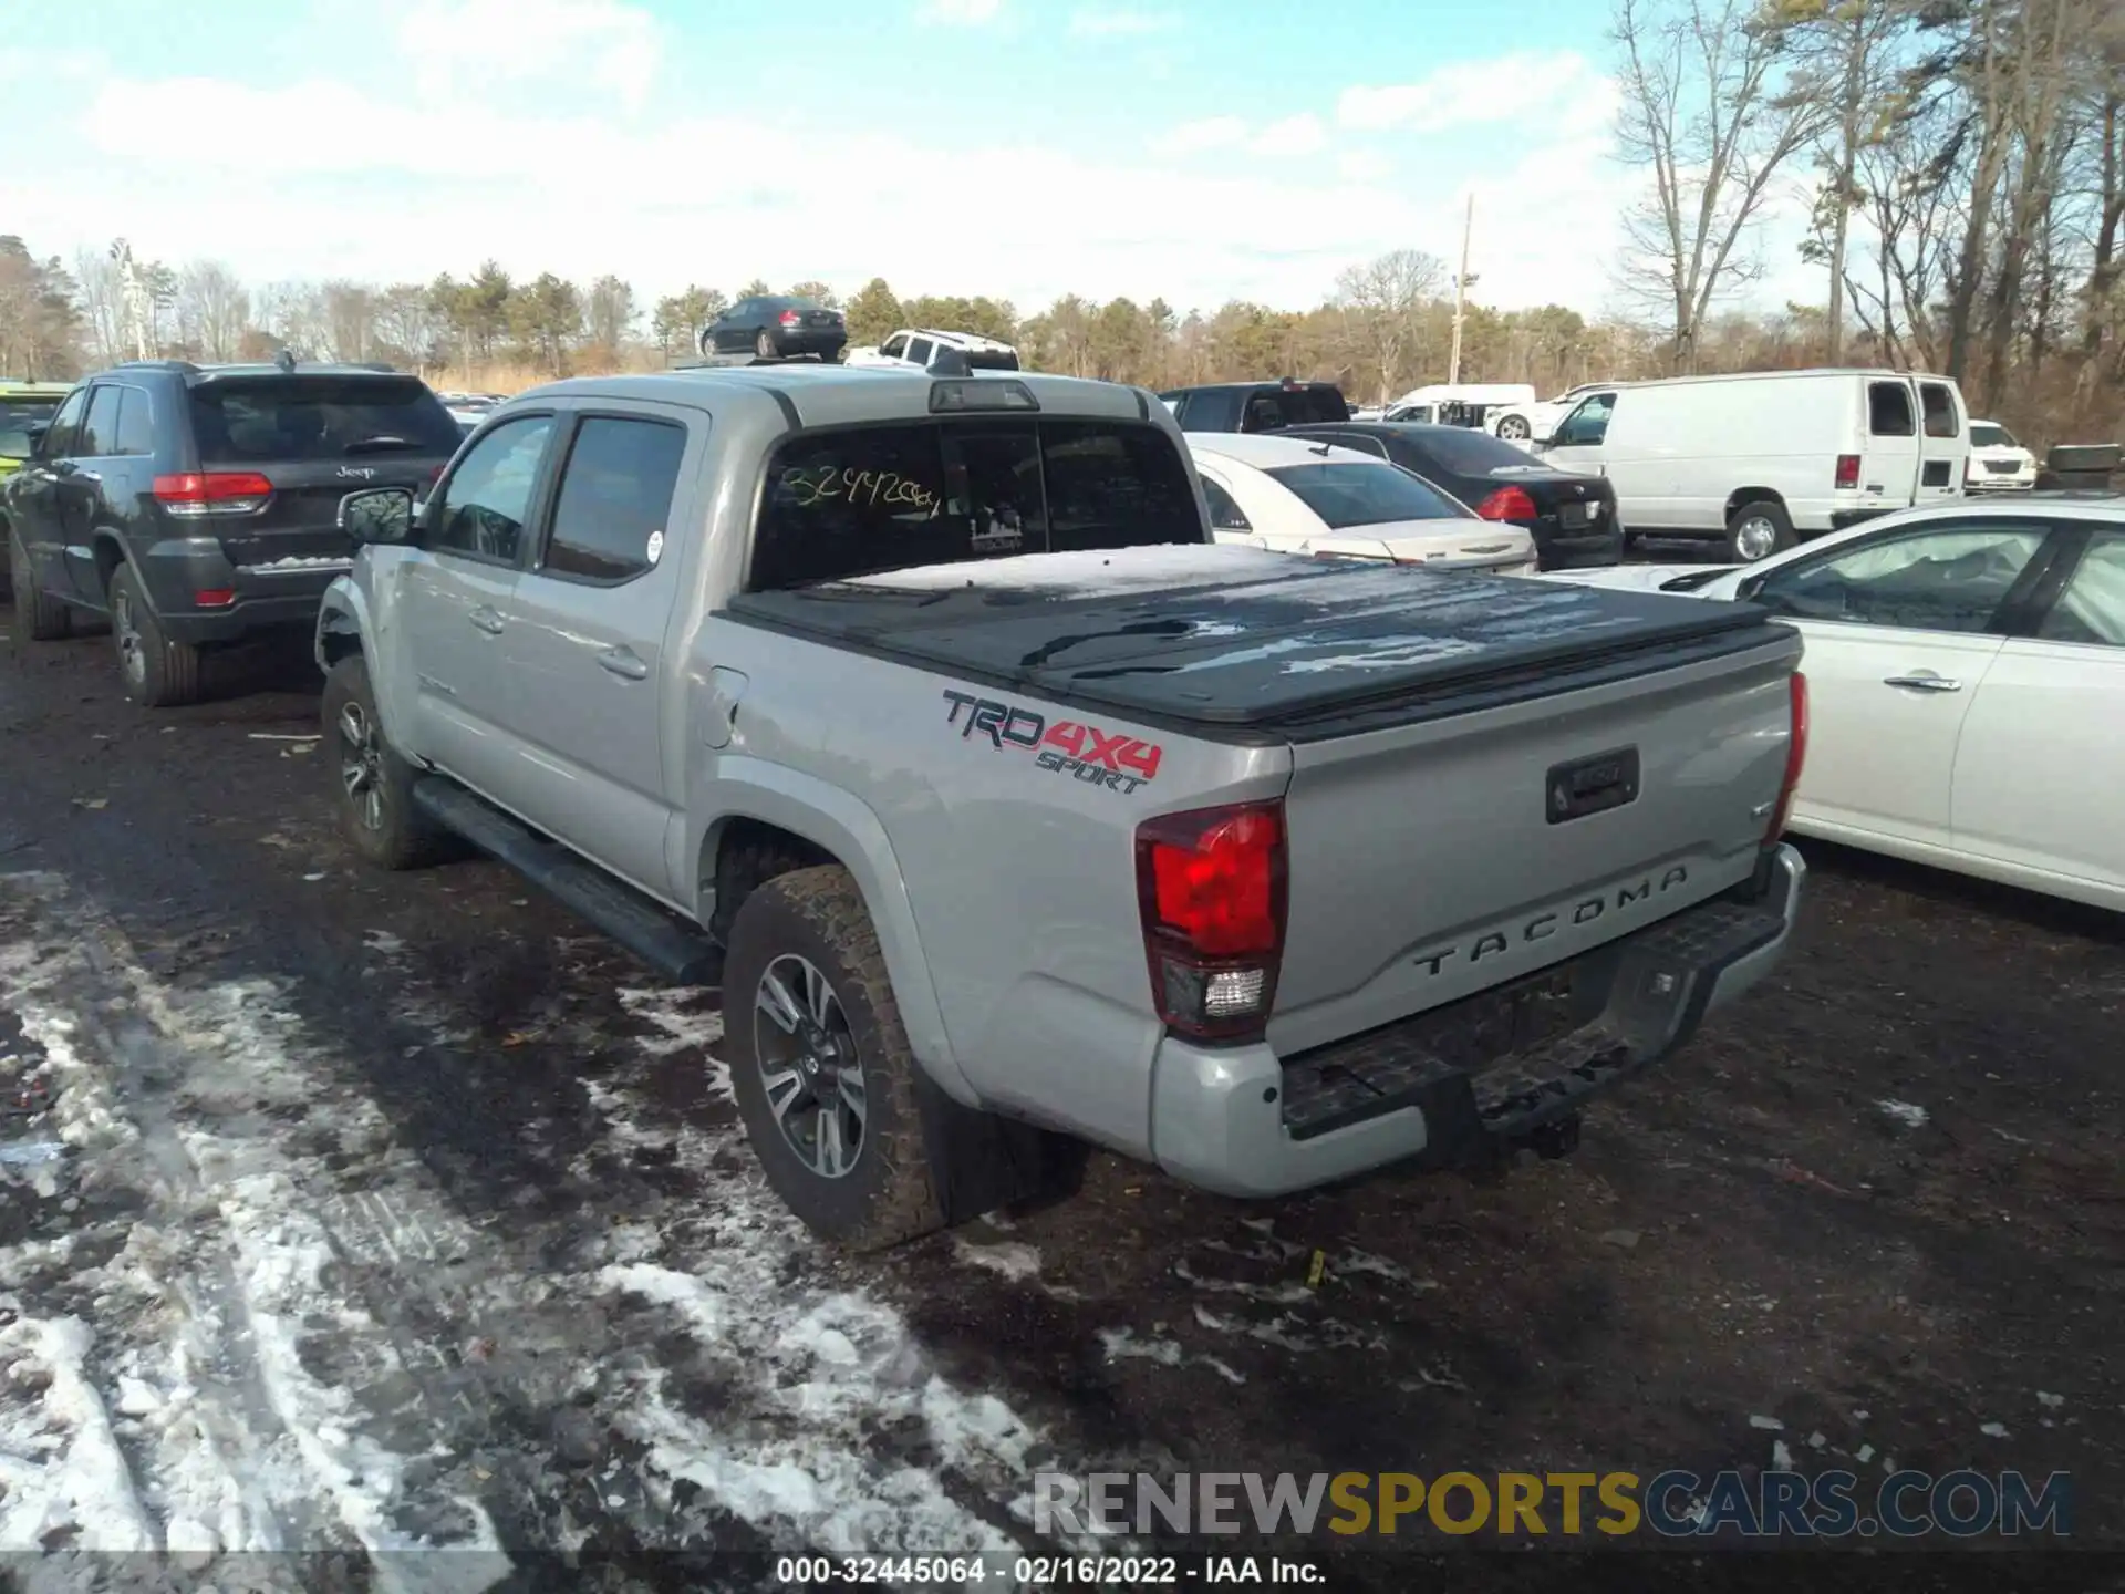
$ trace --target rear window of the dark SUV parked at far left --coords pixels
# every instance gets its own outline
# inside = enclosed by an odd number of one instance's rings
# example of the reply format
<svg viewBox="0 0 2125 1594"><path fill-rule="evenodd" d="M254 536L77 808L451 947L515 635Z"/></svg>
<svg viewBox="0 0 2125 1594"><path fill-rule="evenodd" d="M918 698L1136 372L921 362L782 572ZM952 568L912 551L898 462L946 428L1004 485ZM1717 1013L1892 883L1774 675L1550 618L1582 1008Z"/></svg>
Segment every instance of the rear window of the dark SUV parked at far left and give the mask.
<svg viewBox="0 0 2125 1594"><path fill-rule="evenodd" d="M191 429L202 465L457 451L442 402L412 378L274 376L200 383Z"/></svg>

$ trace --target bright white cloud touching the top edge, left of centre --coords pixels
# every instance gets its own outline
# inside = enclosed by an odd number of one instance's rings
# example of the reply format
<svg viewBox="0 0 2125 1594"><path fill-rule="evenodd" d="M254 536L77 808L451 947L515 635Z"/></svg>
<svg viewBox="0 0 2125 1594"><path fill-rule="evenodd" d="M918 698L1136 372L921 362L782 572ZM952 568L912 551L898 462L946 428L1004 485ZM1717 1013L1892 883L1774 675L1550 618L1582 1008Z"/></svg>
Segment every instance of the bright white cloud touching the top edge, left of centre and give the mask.
<svg viewBox="0 0 2125 1594"><path fill-rule="evenodd" d="M423 100L502 83L604 89L629 108L648 98L663 53L657 19L623 0L455 0L408 13L397 30Z"/></svg>

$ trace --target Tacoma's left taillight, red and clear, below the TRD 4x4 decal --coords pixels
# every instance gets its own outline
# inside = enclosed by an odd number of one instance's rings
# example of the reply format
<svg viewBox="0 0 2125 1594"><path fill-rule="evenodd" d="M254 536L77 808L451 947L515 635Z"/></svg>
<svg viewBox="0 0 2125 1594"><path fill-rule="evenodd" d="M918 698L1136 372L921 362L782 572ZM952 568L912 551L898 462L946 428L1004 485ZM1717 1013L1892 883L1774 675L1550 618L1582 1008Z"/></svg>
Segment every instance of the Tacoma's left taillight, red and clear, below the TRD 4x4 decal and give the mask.
<svg viewBox="0 0 2125 1594"><path fill-rule="evenodd" d="M1137 905L1152 1001L1196 1039L1252 1039L1284 963L1284 803L1162 814L1137 827Z"/></svg>

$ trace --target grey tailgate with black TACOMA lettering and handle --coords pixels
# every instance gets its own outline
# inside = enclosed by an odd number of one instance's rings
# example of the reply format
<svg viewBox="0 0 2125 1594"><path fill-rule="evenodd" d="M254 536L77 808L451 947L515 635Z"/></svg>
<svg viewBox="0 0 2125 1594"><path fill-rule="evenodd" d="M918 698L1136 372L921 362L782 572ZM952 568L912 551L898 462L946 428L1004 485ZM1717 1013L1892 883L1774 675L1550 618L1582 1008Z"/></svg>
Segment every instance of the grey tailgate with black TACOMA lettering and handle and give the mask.
<svg viewBox="0 0 2125 1594"><path fill-rule="evenodd" d="M1798 635L1564 697L1298 742L1269 1039L1290 1056L1734 886L1785 774Z"/></svg>

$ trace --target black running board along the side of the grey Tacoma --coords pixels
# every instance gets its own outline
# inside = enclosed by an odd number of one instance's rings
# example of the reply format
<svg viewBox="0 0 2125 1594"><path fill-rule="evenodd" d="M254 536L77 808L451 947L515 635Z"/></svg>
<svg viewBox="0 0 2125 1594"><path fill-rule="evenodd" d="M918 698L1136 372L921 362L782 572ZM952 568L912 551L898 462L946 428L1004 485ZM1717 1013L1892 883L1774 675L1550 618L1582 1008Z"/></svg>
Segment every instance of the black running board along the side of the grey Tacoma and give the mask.
<svg viewBox="0 0 2125 1594"><path fill-rule="evenodd" d="M712 986L722 980L722 950L701 929L482 797L440 776L423 776L412 784L412 801L438 825L457 831L563 908L597 925L674 984Z"/></svg>

